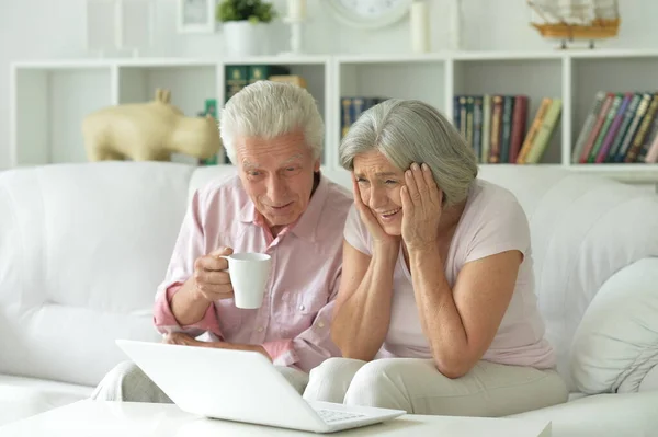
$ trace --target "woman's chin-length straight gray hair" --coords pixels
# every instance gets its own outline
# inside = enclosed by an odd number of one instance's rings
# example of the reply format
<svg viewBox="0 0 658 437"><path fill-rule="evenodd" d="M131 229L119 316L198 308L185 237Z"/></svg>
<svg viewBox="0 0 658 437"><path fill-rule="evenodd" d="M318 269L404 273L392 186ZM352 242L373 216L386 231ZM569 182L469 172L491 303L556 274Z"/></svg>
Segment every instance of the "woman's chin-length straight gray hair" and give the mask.
<svg viewBox="0 0 658 437"><path fill-rule="evenodd" d="M468 196L477 177L477 160L464 137L433 106L418 100L386 100L365 111L340 145L340 163L354 170L354 157L371 150L399 170L426 163L443 191L444 206Z"/></svg>

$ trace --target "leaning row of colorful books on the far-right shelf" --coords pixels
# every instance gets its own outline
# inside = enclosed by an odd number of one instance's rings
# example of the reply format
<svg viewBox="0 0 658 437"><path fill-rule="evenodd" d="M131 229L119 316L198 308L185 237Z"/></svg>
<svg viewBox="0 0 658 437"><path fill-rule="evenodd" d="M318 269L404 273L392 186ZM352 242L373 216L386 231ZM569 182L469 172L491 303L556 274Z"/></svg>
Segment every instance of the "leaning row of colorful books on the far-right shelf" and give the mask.
<svg viewBox="0 0 658 437"><path fill-rule="evenodd" d="M571 162L658 162L658 92L599 91L578 135Z"/></svg>

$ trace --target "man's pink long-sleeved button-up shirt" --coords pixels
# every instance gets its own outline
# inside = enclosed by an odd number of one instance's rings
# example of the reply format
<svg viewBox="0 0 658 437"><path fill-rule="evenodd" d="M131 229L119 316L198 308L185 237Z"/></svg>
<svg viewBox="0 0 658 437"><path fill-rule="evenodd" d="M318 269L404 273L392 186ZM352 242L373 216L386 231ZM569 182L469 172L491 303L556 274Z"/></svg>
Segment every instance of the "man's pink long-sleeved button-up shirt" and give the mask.
<svg viewBox="0 0 658 437"><path fill-rule="evenodd" d="M352 196L321 176L310 203L292 226L272 235L238 176L214 181L194 194L167 275L158 287L155 325L161 333L208 332L237 344L262 345L275 365L304 371L340 356L329 327L342 266L342 232ZM192 276L194 261L218 248L272 256L263 304L236 308L234 299L213 302L205 317L181 326L171 298Z"/></svg>

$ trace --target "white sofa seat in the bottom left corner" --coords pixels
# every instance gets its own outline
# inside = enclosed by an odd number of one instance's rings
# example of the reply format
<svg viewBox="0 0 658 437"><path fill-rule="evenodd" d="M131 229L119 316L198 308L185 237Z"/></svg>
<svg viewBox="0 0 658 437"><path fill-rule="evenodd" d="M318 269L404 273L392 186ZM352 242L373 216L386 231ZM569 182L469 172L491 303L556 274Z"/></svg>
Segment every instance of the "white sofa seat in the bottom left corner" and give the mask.
<svg viewBox="0 0 658 437"><path fill-rule="evenodd" d="M0 375L0 426L89 398L93 388Z"/></svg>

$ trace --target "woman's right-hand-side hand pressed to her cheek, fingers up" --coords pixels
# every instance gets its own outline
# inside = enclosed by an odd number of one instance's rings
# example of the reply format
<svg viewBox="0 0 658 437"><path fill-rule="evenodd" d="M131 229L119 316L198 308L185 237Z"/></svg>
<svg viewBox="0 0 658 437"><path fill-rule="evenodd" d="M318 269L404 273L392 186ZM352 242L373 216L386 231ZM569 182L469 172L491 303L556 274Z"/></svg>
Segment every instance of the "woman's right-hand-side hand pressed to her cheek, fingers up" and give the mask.
<svg viewBox="0 0 658 437"><path fill-rule="evenodd" d="M431 248L439 239L443 192L427 164L411 164L405 172L402 240L409 250Z"/></svg>

